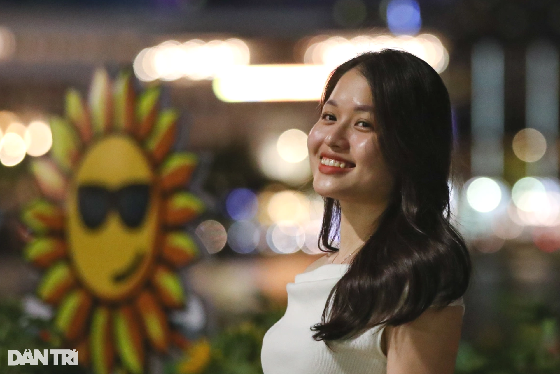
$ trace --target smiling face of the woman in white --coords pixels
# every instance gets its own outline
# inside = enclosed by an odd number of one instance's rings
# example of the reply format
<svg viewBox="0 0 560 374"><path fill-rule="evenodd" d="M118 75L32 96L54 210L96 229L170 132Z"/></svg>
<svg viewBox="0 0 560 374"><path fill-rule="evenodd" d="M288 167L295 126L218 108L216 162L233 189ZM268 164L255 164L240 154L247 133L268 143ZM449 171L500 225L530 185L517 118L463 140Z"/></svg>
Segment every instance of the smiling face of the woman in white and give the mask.
<svg viewBox="0 0 560 374"><path fill-rule="evenodd" d="M356 68L337 82L307 137L307 149L319 195L341 202L388 201L393 176L381 155L370 86Z"/></svg>

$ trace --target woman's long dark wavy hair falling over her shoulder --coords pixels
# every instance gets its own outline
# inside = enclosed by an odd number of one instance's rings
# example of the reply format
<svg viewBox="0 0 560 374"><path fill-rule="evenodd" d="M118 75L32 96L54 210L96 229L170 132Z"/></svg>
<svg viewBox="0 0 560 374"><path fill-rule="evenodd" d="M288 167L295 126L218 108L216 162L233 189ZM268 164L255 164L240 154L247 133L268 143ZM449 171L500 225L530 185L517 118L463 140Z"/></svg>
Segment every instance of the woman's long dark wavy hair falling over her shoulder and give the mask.
<svg viewBox="0 0 560 374"><path fill-rule="evenodd" d="M330 292L321 323L311 327L330 349L330 340L413 321L432 304L447 306L466 292L472 271L465 240L450 222L452 127L444 82L408 52L368 52L331 73L321 109L352 68L370 85L380 149L395 184L377 229ZM334 252L340 205L324 200L319 248Z"/></svg>

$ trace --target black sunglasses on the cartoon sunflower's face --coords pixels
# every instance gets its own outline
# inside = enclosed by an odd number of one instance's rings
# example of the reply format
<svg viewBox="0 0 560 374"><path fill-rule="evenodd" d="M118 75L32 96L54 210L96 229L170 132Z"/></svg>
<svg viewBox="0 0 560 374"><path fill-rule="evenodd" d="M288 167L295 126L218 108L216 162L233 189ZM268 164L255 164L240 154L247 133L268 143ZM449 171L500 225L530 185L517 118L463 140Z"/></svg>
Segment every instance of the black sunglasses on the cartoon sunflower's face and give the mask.
<svg viewBox="0 0 560 374"><path fill-rule="evenodd" d="M129 184L116 191L94 184L78 187L80 215L83 223L90 229L104 223L112 209L119 212L125 225L136 228L144 221L149 202L148 184Z"/></svg>

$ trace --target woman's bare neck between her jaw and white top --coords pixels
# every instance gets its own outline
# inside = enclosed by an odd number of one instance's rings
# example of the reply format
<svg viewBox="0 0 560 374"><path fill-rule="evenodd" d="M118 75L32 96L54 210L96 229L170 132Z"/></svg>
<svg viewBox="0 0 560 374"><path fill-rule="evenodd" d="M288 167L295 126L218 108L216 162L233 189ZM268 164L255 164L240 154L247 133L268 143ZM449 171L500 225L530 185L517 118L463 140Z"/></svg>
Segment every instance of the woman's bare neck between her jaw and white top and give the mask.
<svg viewBox="0 0 560 374"><path fill-rule="evenodd" d="M337 262L349 262L377 229L387 203L364 204L340 201L340 250ZM354 252L354 253L352 253ZM348 257L348 260L346 260Z"/></svg>

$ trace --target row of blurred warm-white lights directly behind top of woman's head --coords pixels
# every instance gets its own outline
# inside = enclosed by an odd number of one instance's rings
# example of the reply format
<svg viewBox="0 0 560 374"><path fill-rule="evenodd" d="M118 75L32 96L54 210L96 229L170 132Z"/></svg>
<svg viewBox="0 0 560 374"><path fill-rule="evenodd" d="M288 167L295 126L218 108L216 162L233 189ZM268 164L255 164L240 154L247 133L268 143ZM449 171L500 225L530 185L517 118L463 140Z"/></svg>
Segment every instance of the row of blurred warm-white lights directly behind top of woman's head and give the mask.
<svg viewBox="0 0 560 374"><path fill-rule="evenodd" d="M304 62L325 64L334 69L339 64L363 52L375 52L384 48L398 48L423 59L438 73L449 63L449 53L441 40L432 34L409 35L360 35L352 39L332 36L325 40L311 39Z"/></svg>

